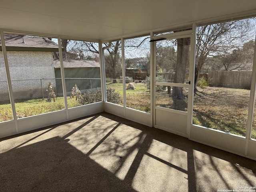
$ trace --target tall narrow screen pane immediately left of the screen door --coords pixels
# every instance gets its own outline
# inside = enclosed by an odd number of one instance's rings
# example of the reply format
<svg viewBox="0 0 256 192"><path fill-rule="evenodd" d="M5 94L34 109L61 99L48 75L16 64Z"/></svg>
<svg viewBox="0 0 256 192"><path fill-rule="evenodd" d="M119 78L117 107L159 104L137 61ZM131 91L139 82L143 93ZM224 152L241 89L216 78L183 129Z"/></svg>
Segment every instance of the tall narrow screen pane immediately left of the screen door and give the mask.
<svg viewBox="0 0 256 192"><path fill-rule="evenodd" d="M150 113L150 36L124 40L126 106Z"/></svg>

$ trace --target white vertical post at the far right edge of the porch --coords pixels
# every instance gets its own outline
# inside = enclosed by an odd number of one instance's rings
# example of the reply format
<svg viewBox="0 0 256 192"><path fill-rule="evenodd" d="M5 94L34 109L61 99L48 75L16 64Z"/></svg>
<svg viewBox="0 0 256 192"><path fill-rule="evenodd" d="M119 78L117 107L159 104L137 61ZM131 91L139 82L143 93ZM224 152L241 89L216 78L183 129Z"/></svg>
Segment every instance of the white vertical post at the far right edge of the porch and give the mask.
<svg viewBox="0 0 256 192"><path fill-rule="evenodd" d="M256 44L254 44L254 58L253 58L253 66L252 66L252 81L251 81L250 101L249 101L249 110L248 110L248 120L247 120L246 137L245 137L244 155L246 155L246 156L248 154L249 141L250 141L251 135L252 135L252 121L253 121L254 102L255 102L255 90L256 90Z"/></svg>

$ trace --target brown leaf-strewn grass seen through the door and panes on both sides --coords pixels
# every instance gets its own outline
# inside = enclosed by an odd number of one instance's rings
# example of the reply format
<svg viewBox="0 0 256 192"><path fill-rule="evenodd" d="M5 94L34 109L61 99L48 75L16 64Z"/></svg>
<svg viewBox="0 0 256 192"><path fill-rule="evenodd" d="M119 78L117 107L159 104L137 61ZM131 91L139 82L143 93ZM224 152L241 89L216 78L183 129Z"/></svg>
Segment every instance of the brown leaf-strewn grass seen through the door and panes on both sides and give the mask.
<svg viewBox="0 0 256 192"><path fill-rule="evenodd" d="M174 99L167 91L156 92L156 106L187 111L188 89L184 100ZM246 135L250 90L222 87L198 88L194 94L193 123L224 132ZM150 112L150 93L134 92L126 95L127 106ZM256 110L254 110L256 111ZM256 112L252 124L252 138L256 139Z"/></svg>

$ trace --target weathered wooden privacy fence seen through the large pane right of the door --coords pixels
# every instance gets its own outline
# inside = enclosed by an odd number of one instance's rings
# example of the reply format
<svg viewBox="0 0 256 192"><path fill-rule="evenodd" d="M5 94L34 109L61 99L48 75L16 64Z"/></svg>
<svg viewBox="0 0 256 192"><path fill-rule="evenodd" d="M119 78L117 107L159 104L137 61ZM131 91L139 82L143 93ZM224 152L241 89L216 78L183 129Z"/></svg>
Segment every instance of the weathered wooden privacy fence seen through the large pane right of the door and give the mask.
<svg viewBox="0 0 256 192"><path fill-rule="evenodd" d="M250 89L252 70L241 71L209 71L211 86Z"/></svg>

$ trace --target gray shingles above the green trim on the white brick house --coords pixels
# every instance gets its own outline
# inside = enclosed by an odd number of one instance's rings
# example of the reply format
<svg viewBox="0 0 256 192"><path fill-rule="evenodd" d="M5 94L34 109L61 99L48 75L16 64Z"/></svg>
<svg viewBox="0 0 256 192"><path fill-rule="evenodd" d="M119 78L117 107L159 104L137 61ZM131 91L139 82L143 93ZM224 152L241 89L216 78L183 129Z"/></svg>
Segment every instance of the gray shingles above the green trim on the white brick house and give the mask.
<svg viewBox="0 0 256 192"><path fill-rule="evenodd" d="M10 47L58 48L58 44L48 38L4 34L4 40L5 46ZM2 45L1 42L0 45Z"/></svg>

